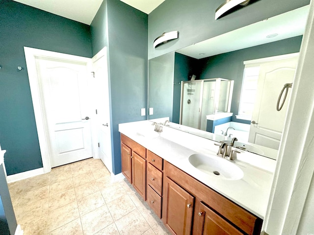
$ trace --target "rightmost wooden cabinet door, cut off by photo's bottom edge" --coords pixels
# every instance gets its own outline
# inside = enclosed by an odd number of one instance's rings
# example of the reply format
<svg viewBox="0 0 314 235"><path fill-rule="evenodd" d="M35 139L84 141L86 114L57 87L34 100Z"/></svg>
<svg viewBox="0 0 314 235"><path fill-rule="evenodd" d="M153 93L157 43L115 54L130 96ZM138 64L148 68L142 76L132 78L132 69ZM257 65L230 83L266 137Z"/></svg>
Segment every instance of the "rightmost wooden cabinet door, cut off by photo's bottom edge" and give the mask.
<svg viewBox="0 0 314 235"><path fill-rule="evenodd" d="M203 203L198 216L198 235L244 235Z"/></svg>

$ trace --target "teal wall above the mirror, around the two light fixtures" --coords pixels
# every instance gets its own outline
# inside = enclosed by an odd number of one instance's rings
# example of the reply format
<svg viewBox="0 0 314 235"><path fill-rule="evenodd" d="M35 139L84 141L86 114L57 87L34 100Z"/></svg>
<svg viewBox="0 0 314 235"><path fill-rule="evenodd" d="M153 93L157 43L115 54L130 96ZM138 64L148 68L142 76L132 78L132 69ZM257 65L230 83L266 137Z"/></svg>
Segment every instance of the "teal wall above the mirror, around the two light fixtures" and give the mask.
<svg viewBox="0 0 314 235"><path fill-rule="evenodd" d="M310 0L259 0L219 20L217 7L224 0L166 0L148 16L149 59L187 47L234 29L262 21L301 6ZM163 32L179 31L179 39L153 48Z"/></svg>

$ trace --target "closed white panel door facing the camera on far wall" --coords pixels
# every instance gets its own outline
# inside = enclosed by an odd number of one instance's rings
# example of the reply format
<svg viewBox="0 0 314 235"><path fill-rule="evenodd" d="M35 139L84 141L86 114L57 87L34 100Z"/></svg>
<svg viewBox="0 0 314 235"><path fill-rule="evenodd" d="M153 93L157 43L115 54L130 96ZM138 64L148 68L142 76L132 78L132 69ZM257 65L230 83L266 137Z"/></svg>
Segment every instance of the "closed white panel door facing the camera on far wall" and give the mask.
<svg viewBox="0 0 314 235"><path fill-rule="evenodd" d="M36 57L51 166L93 157L87 66Z"/></svg>

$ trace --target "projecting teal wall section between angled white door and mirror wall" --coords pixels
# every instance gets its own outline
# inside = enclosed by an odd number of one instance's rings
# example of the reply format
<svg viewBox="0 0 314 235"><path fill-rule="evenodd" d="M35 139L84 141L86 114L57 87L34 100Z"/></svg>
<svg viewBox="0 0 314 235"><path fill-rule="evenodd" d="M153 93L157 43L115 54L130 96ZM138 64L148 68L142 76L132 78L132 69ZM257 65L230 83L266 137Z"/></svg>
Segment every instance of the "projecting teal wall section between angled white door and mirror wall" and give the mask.
<svg viewBox="0 0 314 235"><path fill-rule="evenodd" d="M107 14L103 14L105 9ZM148 15L120 0L104 0L91 29L93 55L108 46L112 162L113 173L118 174L121 172L118 124L147 119L140 111L147 107Z"/></svg>

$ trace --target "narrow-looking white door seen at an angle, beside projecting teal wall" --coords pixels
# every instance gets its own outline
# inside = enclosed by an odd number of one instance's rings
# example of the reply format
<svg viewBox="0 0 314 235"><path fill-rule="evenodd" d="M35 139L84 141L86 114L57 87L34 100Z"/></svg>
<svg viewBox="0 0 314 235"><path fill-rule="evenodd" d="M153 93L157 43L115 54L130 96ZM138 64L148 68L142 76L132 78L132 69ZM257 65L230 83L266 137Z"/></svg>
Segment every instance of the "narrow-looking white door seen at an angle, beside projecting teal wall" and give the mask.
<svg viewBox="0 0 314 235"><path fill-rule="evenodd" d="M97 108L96 130L98 132L99 140L98 154L100 159L107 167L107 169L110 171L110 173L112 173L109 89L108 89L106 48L99 52L99 54L95 56L96 58L93 62L93 71L95 76L94 100L96 101Z"/></svg>

